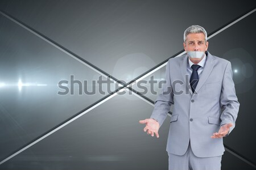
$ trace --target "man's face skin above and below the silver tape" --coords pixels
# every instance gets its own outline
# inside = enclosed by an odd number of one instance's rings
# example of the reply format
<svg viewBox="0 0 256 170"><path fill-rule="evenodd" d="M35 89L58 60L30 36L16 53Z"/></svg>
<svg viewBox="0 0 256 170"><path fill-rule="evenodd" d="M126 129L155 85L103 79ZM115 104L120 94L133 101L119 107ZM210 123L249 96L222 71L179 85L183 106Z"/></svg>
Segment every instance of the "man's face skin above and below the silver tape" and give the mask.
<svg viewBox="0 0 256 170"><path fill-rule="evenodd" d="M185 51L200 51L205 52L208 49L208 41L205 42L205 36L204 33L189 33L187 35L187 40L183 42L183 46ZM193 63L199 63L202 58L191 58L189 59Z"/></svg>

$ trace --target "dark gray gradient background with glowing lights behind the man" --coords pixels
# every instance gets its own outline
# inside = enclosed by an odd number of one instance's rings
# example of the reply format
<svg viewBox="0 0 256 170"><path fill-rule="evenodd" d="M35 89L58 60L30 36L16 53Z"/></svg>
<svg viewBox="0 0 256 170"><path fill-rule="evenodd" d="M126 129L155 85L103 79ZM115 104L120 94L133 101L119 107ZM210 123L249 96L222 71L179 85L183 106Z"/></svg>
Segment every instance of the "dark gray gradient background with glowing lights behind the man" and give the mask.
<svg viewBox="0 0 256 170"><path fill-rule="evenodd" d="M1 11L125 82L183 50L189 25L202 25L210 34L253 7L254 1L0 1ZM218 33L208 48L237 70L233 79L241 107L236 128L224 144L254 165L255 19L254 12ZM70 75L90 82L100 74L3 15L0 57L0 83L21 79L48 84L20 91L17 86L0 87L0 160L108 95L57 95L57 83ZM151 75L159 81L164 70ZM137 84L131 88L139 91ZM144 95L151 102L156 97ZM169 117L159 139L144 133L138 123L150 117L152 109L134 94L115 95L0 169L168 169ZM225 151L222 169L254 168Z"/></svg>

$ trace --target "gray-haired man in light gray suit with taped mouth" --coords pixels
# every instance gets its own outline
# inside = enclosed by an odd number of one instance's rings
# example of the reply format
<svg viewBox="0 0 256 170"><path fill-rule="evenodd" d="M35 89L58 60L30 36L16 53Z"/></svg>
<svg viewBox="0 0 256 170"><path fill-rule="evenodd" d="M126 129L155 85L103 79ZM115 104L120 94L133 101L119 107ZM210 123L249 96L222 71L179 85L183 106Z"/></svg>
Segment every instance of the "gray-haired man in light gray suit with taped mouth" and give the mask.
<svg viewBox="0 0 256 170"><path fill-rule="evenodd" d="M212 56L207 32L192 25L184 32L187 54L170 58L162 94L155 101L144 131L159 138L158 130L174 105L167 140L169 170L221 169L223 137L235 127L238 103L231 63Z"/></svg>

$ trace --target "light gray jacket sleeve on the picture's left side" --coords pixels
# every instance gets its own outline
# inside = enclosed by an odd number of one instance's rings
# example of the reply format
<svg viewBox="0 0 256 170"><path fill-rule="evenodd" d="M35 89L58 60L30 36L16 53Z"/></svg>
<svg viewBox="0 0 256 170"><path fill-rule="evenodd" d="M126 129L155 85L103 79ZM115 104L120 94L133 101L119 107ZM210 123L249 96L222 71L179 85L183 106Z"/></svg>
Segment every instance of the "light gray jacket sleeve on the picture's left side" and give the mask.
<svg viewBox="0 0 256 170"><path fill-rule="evenodd" d="M172 92L171 78L170 78L170 61L166 65L166 83L163 84L162 93L158 95L155 101L155 107L150 118L157 120L162 126L170 111L171 104L174 104L174 94Z"/></svg>

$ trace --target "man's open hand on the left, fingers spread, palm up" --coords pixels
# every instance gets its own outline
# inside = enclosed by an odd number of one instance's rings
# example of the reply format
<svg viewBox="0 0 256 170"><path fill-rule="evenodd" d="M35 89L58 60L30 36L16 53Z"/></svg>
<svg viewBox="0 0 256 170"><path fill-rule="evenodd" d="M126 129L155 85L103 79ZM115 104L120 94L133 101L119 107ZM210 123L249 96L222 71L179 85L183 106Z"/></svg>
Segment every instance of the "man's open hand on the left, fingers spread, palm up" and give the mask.
<svg viewBox="0 0 256 170"><path fill-rule="evenodd" d="M152 118L146 118L145 120L140 120L140 124L146 124L146 127L144 128L144 131L147 131L147 134L151 134L152 137L154 137L154 133L157 138L159 138L158 130L159 130L159 122Z"/></svg>

